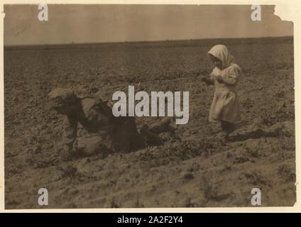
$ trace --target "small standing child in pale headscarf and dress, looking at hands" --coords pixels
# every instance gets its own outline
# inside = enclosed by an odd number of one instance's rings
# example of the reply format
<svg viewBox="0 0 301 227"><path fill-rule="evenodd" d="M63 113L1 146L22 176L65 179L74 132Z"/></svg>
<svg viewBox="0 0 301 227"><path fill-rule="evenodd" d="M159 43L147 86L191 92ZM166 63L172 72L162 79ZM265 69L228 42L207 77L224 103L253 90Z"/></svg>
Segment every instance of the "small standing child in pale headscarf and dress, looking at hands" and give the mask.
<svg viewBox="0 0 301 227"><path fill-rule="evenodd" d="M215 45L208 55L215 66L210 77L202 77L202 81L215 86L209 121L220 121L222 131L219 135L226 137L234 131L235 124L241 121L236 84L242 72L239 65L233 62L234 57L226 46Z"/></svg>

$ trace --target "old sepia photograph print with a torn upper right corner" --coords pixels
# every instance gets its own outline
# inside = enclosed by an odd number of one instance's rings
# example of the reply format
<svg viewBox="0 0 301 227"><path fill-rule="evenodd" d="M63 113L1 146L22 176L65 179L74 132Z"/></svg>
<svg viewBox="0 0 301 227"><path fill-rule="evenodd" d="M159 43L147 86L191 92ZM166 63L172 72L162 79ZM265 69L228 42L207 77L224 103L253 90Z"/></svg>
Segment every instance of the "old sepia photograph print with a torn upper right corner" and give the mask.
<svg viewBox="0 0 301 227"><path fill-rule="evenodd" d="M293 23L274 5L4 14L5 209L296 203Z"/></svg>

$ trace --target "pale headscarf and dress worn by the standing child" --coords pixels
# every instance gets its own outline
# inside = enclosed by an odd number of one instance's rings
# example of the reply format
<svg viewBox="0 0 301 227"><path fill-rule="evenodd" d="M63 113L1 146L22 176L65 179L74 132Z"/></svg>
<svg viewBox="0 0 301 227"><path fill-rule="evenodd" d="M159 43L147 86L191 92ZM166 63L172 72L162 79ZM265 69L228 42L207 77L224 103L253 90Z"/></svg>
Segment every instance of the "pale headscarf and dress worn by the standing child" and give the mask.
<svg viewBox="0 0 301 227"><path fill-rule="evenodd" d="M223 63L224 70L217 67L212 71L211 77L214 79L215 93L210 107L209 121L227 121L229 123L239 123L241 114L239 111L239 97L236 92L236 84L241 76L239 65L231 63L233 57L229 54L224 45L217 45L209 51L214 57L219 58ZM224 82L218 82L215 77L221 74Z"/></svg>

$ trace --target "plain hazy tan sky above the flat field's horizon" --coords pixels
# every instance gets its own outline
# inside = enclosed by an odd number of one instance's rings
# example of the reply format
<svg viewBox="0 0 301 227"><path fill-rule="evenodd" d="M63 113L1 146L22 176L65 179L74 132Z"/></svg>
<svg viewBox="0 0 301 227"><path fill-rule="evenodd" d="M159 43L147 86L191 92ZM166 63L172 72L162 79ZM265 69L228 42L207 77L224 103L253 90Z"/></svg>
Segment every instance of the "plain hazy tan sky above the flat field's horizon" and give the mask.
<svg viewBox="0 0 301 227"><path fill-rule="evenodd" d="M293 35L293 24L261 6L251 21L248 5L48 4L49 21L38 5L4 5L4 45L253 38Z"/></svg>

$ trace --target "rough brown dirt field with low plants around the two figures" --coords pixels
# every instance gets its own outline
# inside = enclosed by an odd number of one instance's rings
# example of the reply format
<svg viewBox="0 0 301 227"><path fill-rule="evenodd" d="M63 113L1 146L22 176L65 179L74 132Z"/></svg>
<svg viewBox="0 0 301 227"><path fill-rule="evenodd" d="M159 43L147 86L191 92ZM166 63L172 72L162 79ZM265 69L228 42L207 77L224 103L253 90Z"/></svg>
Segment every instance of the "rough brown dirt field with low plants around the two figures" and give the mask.
<svg viewBox="0 0 301 227"><path fill-rule="evenodd" d="M211 71L206 52L219 43L244 73L243 123L226 143L207 121L214 87L198 77ZM295 203L292 38L6 48L4 83L6 209L251 206L254 187L262 206ZM58 161L63 116L45 110L48 92L100 90L111 99L128 85L189 91L189 123L163 134L160 147ZM136 118L138 128L158 120ZM38 205L41 187L48 206Z"/></svg>

